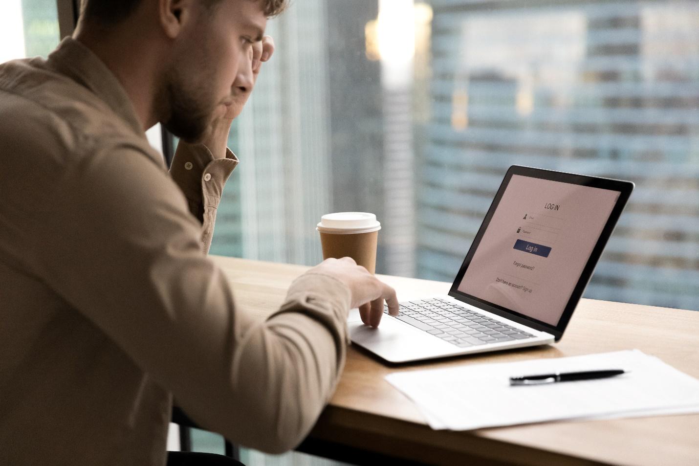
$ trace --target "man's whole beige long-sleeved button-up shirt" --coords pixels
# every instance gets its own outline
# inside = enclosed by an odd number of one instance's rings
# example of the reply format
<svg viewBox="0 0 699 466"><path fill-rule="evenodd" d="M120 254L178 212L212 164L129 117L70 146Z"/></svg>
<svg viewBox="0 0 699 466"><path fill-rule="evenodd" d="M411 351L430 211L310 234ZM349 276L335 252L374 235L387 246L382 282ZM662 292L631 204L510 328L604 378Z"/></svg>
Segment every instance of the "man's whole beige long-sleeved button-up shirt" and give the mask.
<svg viewBox="0 0 699 466"><path fill-rule="evenodd" d="M181 143L168 176L72 39L0 65L0 122L0 465L163 465L172 395L236 444L300 442L350 294L305 274L266 322L236 310L206 257L236 158Z"/></svg>

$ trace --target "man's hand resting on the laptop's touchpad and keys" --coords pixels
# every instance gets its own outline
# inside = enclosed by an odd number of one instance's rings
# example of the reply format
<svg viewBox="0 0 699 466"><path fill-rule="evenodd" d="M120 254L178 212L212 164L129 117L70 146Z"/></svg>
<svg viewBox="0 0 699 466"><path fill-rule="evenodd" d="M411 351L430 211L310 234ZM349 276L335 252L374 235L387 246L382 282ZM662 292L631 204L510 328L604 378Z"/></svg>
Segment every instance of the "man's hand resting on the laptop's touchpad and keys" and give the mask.
<svg viewBox="0 0 699 466"><path fill-rule="evenodd" d="M384 299L391 316L398 316L396 290L357 265L351 257L326 259L310 271L331 275L345 283L352 292L350 306L359 307L363 323L378 327L384 314Z"/></svg>

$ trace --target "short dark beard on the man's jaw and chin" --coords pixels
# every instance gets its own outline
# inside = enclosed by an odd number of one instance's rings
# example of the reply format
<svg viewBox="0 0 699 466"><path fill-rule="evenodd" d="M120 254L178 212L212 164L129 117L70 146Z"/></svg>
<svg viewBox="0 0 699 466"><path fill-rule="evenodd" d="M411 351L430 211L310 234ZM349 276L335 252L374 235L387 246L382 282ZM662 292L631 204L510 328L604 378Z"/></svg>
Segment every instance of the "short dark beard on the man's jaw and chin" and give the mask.
<svg viewBox="0 0 699 466"><path fill-rule="evenodd" d="M196 85L182 85L176 70L169 73L161 90L159 104L165 109L162 125L188 143L201 141L215 109L215 105L206 104L208 96L201 91L203 88Z"/></svg>

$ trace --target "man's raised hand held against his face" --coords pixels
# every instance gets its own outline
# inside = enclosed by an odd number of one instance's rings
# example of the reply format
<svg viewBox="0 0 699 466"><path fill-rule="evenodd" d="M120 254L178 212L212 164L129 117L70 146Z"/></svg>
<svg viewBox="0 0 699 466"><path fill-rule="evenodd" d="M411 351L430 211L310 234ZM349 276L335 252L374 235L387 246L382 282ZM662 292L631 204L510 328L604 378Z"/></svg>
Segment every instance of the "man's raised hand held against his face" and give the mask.
<svg viewBox="0 0 699 466"><path fill-rule="evenodd" d="M240 55L238 74L231 87L231 99L216 107L209 128L201 141L215 158L226 156L231 123L243 111L243 106L257 82L262 62L270 59L273 53L273 39L271 36L264 36L262 41L250 45L247 53Z"/></svg>

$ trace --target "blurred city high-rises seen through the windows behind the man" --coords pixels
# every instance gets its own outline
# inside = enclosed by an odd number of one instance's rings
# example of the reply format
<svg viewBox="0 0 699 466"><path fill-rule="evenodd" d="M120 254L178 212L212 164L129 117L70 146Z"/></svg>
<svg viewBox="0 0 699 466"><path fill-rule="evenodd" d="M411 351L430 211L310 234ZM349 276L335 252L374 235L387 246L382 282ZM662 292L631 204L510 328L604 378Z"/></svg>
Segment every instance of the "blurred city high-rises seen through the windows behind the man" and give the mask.
<svg viewBox="0 0 699 466"><path fill-rule="evenodd" d="M0 8L0 62L57 45L55 0ZM522 164L636 183L585 297L699 310L698 1L292 0L267 33L212 254L316 264L322 214L370 211L377 273L452 281Z"/></svg>

